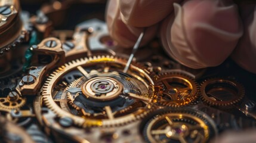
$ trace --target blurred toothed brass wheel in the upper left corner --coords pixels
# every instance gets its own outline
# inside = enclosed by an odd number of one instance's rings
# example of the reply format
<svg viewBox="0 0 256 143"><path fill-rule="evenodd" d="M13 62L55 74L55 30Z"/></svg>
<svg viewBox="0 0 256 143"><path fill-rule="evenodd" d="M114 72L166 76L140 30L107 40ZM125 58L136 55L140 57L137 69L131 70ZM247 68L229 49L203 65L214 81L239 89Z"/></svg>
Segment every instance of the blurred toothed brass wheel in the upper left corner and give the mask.
<svg viewBox="0 0 256 143"><path fill-rule="evenodd" d="M18 2L10 1L8 5L1 6L9 8L10 14L1 14L0 56L5 52L9 52L11 49L16 48L20 43L29 41L29 35L32 31L29 14L21 13Z"/></svg>

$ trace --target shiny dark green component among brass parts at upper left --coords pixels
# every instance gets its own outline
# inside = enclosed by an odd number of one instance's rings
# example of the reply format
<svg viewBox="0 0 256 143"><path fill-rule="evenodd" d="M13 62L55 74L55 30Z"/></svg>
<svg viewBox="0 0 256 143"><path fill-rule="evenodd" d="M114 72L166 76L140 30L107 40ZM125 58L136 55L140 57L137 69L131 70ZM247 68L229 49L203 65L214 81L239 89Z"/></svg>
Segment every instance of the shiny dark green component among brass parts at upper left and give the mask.
<svg viewBox="0 0 256 143"><path fill-rule="evenodd" d="M30 38L30 41L29 41L29 46L32 46L32 45L38 45L39 43L39 40L38 40L38 34L33 31L31 33L31 38ZM31 63L31 58L33 56L33 52L31 51L30 48L27 49L27 51L25 52L25 63L23 65L23 71L25 72L27 70L28 67L30 67L30 63Z"/></svg>

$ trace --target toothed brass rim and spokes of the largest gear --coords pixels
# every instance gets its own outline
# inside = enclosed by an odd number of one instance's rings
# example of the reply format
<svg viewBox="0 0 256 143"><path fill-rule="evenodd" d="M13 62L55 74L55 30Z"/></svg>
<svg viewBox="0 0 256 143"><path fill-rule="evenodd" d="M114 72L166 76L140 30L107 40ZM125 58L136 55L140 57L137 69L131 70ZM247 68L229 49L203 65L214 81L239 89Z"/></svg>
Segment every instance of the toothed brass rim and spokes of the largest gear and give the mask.
<svg viewBox="0 0 256 143"><path fill-rule="evenodd" d="M143 90L146 91L147 93L142 92L141 94L137 94L137 91L133 94L131 92L128 92L127 97L138 100L143 102L143 107L137 108L136 110L131 110L131 113L127 114L118 114L117 117L113 118L113 115L111 115L111 119L109 117L109 112L111 110L106 110L105 114L107 114L107 119L90 119L87 116L85 117L80 117L80 116L74 116L74 114L69 113L67 110L62 110L60 106L58 106L54 99L53 99L53 88L55 83L60 80L64 74L68 73L69 71L72 70L79 70L81 73L84 74L84 76L87 76L88 73L87 71L84 70L83 66L93 66L93 65L110 65L110 66L116 66L118 68L124 68L127 63L127 60L123 58L118 58L118 57L113 57L113 56L94 56L94 57L89 57L89 58L81 58L80 60L75 60L71 61L64 66L59 67L57 70L55 70L47 79L45 82L43 88L42 88L42 99L44 100L44 104L50 108L55 114L57 114L58 117L70 117L75 125L82 126L82 127L87 127L87 126L116 126L116 125L122 125L125 123L132 122L134 120L140 119L141 117L144 117L149 111L153 109L153 106L151 104L151 97L155 95L155 92L158 91L158 88L154 86L154 80L151 78L149 75L149 71L141 68L138 66L136 63L132 63L130 66L131 71L128 71L127 74L131 75L132 77L138 78L141 80L141 82L144 84L143 86L145 87ZM104 69L105 70L105 69ZM94 71L94 70L92 70ZM105 71L104 71L105 72ZM135 72L135 73L132 73ZM143 78L143 79L142 79ZM131 80L131 79L125 79L125 80ZM138 80L138 81L140 81ZM136 83L137 84L137 83ZM72 85L72 84L71 84ZM136 85L134 88L139 88L141 87ZM155 91L156 89L156 91ZM68 90L66 88L65 90ZM124 90L125 91L125 90ZM67 92L67 91L63 91ZM123 92L124 93L124 92ZM67 98L67 97L66 97ZM70 104L73 104L72 101L69 98ZM79 110L78 107L75 107L75 109ZM137 107L137 104L134 105L134 107ZM106 108L106 107L105 107ZM121 110L125 111L124 110Z"/></svg>

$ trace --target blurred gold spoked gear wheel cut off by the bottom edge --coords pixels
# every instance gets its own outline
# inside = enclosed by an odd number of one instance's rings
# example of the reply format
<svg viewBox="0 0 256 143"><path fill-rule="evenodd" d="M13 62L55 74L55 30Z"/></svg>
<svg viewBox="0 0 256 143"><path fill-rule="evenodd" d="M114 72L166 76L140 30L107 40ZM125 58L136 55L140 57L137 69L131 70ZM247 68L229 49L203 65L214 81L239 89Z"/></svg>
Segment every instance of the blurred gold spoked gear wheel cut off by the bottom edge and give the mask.
<svg viewBox="0 0 256 143"><path fill-rule="evenodd" d="M146 142L208 142L217 135L214 121L192 108L164 108L142 123Z"/></svg>

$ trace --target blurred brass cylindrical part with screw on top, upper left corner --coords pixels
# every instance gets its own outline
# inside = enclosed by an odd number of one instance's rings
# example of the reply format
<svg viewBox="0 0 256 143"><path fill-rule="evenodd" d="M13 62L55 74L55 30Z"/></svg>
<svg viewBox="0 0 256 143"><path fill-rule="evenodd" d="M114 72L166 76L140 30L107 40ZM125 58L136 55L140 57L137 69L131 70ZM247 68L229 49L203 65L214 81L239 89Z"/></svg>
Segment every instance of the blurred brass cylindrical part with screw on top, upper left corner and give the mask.
<svg viewBox="0 0 256 143"><path fill-rule="evenodd" d="M29 26L20 18L21 10L17 0L1 1L0 12L0 55L2 55L18 43L28 40Z"/></svg>

